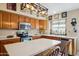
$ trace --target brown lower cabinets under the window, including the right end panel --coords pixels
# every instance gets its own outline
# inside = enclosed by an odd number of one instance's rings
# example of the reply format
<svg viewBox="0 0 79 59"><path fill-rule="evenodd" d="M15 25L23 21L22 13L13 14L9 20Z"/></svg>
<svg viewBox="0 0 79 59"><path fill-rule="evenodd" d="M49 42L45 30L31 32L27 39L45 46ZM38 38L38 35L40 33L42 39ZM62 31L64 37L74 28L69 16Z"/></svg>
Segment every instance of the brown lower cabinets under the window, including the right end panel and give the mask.
<svg viewBox="0 0 79 59"><path fill-rule="evenodd" d="M76 55L77 53L77 47L76 47L76 40L72 39L72 38L62 38L62 37L55 37L55 36L32 36L32 39L40 39L40 38L46 38L46 39L50 39L50 40L59 40L61 41L61 43L63 43L63 41L70 41L70 44L68 45L68 53L69 55Z"/></svg>

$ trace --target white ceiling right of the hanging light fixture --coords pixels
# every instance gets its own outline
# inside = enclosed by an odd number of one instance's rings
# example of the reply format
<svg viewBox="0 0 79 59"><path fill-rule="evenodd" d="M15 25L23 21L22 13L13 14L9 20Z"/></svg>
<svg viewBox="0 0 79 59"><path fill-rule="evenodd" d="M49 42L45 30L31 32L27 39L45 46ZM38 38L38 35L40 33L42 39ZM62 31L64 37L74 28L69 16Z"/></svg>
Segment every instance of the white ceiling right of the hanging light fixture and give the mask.
<svg viewBox="0 0 79 59"><path fill-rule="evenodd" d="M79 3L41 3L41 4L48 8L49 15L79 8Z"/></svg>

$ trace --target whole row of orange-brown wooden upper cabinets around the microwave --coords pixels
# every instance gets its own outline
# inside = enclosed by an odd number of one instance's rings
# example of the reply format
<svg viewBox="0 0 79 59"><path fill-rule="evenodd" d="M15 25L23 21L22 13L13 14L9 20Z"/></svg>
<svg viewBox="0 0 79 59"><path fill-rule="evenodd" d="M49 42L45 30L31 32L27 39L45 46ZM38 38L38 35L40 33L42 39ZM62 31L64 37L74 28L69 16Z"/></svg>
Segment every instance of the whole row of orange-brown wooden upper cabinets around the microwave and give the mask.
<svg viewBox="0 0 79 59"><path fill-rule="evenodd" d="M0 11L0 29L19 29L19 24L22 22L30 23L32 29L47 29L47 20Z"/></svg>

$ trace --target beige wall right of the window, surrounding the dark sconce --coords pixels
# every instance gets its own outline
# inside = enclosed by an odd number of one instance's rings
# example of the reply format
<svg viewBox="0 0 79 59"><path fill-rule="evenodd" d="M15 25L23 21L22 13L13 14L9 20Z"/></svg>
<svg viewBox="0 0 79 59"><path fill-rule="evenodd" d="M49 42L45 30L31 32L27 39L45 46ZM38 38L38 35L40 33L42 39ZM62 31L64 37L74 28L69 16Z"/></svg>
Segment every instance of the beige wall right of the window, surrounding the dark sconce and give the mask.
<svg viewBox="0 0 79 59"><path fill-rule="evenodd" d="M77 32L75 33L73 31L73 27L71 25L71 19L76 18L77 20ZM68 12L68 17L67 17L67 36L73 36L73 37L78 37L77 39L77 50L79 51L79 9L69 11Z"/></svg>

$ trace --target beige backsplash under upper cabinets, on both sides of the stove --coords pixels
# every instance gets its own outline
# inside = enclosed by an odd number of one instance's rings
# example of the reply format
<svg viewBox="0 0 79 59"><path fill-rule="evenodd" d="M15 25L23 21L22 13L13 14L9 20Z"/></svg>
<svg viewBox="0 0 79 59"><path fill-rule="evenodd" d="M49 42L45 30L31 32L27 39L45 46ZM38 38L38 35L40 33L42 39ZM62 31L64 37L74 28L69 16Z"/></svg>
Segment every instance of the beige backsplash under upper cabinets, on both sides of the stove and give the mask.
<svg viewBox="0 0 79 59"><path fill-rule="evenodd" d="M6 37L8 35L13 35L16 36L16 32L17 30L0 30L0 37ZM37 29L30 29L28 31L28 35L35 35L35 34L39 34L39 30Z"/></svg>

